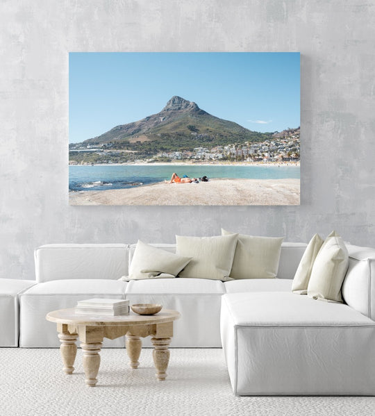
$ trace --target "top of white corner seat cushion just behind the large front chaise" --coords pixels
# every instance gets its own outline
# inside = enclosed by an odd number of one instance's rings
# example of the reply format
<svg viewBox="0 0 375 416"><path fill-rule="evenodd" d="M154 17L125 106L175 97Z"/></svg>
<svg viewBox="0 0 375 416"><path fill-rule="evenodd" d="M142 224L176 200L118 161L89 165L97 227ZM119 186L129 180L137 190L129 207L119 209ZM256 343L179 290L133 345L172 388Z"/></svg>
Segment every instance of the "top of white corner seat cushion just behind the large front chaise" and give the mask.
<svg viewBox="0 0 375 416"><path fill-rule="evenodd" d="M287 278L249 278L224 283L226 293L289 292L292 280Z"/></svg>

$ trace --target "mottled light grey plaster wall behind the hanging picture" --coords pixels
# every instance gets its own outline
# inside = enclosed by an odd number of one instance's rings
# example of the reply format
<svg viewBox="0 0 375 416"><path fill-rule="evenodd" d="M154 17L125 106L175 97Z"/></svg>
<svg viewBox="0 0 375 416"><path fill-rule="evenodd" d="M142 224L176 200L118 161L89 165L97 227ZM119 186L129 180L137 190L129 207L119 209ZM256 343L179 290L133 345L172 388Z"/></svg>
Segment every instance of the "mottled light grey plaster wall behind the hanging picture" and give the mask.
<svg viewBox="0 0 375 416"><path fill-rule="evenodd" d="M51 242L173 242L224 226L375 247L375 1L1 0L1 277ZM300 51L301 206L68 205L69 51Z"/></svg>

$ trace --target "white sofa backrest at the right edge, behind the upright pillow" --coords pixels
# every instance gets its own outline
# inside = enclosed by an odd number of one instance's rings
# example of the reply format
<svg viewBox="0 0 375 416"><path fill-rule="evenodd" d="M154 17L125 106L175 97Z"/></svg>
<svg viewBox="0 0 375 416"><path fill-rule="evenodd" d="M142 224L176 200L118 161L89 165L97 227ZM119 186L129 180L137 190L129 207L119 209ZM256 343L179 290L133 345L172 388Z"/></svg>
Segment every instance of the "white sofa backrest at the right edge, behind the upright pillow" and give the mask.
<svg viewBox="0 0 375 416"><path fill-rule="evenodd" d="M342 298L375 320L375 249L347 244L349 268L342 283Z"/></svg>

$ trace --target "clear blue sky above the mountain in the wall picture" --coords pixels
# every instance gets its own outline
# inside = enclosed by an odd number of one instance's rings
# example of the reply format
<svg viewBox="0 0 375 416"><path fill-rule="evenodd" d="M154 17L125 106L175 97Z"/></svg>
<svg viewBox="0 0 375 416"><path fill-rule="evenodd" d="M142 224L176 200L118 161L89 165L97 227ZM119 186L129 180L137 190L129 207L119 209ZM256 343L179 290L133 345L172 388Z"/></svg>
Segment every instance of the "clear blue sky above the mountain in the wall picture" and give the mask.
<svg viewBox="0 0 375 416"><path fill-rule="evenodd" d="M69 53L69 142L158 113L178 95L253 131L300 124L299 53Z"/></svg>

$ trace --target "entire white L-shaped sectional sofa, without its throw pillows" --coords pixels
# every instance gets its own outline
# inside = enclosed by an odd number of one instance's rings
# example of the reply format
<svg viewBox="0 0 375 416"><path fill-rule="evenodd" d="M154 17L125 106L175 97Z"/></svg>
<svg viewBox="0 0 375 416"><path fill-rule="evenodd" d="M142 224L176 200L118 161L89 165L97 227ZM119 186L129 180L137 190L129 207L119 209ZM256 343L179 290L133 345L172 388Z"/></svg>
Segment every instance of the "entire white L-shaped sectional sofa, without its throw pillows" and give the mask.
<svg viewBox="0 0 375 416"><path fill-rule="evenodd" d="M59 347L45 315L74 307L78 299L161 303L182 315L171 347L223 347L235 394L375 394L375 249L347 246L343 304L291 292L305 249L283 243L277 278L126 282L119 278L128 274L135 244L45 245L35 250L36 282L13 288L8 306L0 304L4 311L12 305L16 314L0 343L17 344L19 331L19 347ZM104 347L124 345L119 338ZM144 340L144 346L151 345Z"/></svg>

